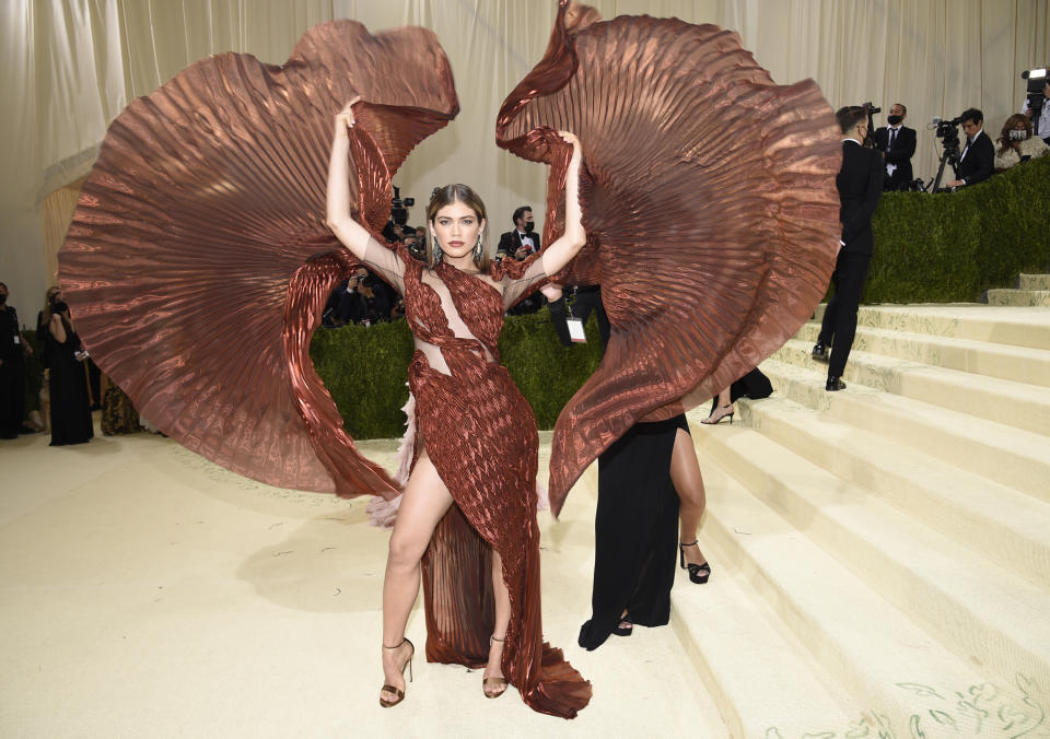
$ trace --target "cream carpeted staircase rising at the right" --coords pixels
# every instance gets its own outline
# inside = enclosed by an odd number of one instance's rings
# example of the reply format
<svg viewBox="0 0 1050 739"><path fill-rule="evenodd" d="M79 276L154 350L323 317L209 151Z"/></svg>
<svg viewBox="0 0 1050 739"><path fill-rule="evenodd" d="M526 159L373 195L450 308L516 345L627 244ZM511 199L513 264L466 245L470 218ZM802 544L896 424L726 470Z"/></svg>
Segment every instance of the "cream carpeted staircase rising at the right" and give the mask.
<svg viewBox="0 0 1050 739"><path fill-rule="evenodd" d="M818 329L689 415L714 570L674 623L730 734L1050 737L1050 308L864 307L840 392Z"/></svg>

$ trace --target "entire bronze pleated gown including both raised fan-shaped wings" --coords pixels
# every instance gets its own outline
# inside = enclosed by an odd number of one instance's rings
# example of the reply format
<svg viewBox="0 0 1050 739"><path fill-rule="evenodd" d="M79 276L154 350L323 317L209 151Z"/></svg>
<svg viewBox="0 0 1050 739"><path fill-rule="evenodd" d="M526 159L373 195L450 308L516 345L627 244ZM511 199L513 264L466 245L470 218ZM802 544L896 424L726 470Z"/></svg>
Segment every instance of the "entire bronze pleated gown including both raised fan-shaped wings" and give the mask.
<svg viewBox="0 0 1050 739"><path fill-rule="evenodd" d="M217 55L133 101L84 183L59 275L92 354L172 438L270 484L390 498L397 483L358 453L308 351L331 288L358 267L322 218L331 119L355 95L358 125L337 148L353 150L354 219L378 233L390 178L456 116L458 101L431 32L372 36L335 21L307 32L284 64ZM611 361L555 430L555 514L583 469L628 429L707 400L812 314L838 244L833 128L815 84L774 85L733 34L652 17L603 23L591 9L562 3L547 55L497 121L499 145L550 165L544 241L583 212L588 247L564 281L600 284L612 324ZM568 148L548 133L557 130L585 143L579 210L562 192L576 181L565 178ZM726 130L734 136L712 134ZM440 236L436 221L432 235ZM358 247L368 249L365 241ZM448 246L465 256L466 243ZM533 492L525 492L534 426L512 423L510 441L483 454L478 445L498 437L495 417L525 418L503 371L487 361L498 359L500 308L553 268L528 274L536 262L526 261L486 278L378 254L399 260L384 279L400 275L424 344L410 367L427 406L418 485L432 496L440 480L455 503L432 537L440 505L424 506L427 525L406 539L416 549L430 539L428 658L481 667L499 652L489 643L501 635L495 550L510 602L502 672L532 707L575 715L590 685L539 635L536 526L526 512ZM466 259L460 266L474 271ZM439 356L450 375L434 366ZM444 415L438 403L447 404ZM498 458L493 448L504 444L515 451ZM453 458L463 464L448 470ZM423 485L428 474L434 485ZM515 493L490 495L503 489ZM409 571L390 579L397 603L410 595L413 556L396 563ZM388 625L385 644L397 648L387 682L404 690L396 670L409 648L397 623Z"/></svg>

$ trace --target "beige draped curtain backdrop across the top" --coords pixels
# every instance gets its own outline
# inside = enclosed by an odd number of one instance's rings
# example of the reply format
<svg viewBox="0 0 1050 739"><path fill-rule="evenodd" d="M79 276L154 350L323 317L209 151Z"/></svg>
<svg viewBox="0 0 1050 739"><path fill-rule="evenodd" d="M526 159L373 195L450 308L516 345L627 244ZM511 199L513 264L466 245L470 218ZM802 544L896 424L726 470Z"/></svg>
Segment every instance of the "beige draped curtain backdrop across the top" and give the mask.
<svg viewBox="0 0 1050 739"><path fill-rule="evenodd" d="M908 106L915 175L940 152L926 125L980 107L989 133L1019 110L1023 70L1050 63L1050 0L596 0L604 17L648 13L736 30L773 79L813 78L833 107ZM23 315L52 280L75 186L127 102L219 51L280 63L308 27L351 17L371 31L433 30L452 62L459 117L413 153L395 184L425 201L466 181L493 236L544 202L545 173L493 143L504 95L546 48L555 0L4 0L0 2L0 280ZM885 114L877 122L885 121ZM62 189L67 188L67 189ZM58 191L58 192L56 192ZM52 196L52 193L55 193ZM45 206L46 203L46 206ZM422 221L422 208L411 222Z"/></svg>

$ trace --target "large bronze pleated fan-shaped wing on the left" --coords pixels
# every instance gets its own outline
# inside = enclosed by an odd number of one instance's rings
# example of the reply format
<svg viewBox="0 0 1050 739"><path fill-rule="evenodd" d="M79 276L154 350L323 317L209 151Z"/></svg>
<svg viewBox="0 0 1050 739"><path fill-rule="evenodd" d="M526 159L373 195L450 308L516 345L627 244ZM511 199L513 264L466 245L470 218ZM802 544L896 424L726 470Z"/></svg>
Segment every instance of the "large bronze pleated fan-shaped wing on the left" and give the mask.
<svg viewBox="0 0 1050 739"><path fill-rule="evenodd" d="M159 429L242 474L346 495L395 489L307 355L353 266L324 221L332 121L357 95L351 187L377 232L392 174L458 103L429 31L334 21L281 67L222 54L132 102L59 255L84 342Z"/></svg>

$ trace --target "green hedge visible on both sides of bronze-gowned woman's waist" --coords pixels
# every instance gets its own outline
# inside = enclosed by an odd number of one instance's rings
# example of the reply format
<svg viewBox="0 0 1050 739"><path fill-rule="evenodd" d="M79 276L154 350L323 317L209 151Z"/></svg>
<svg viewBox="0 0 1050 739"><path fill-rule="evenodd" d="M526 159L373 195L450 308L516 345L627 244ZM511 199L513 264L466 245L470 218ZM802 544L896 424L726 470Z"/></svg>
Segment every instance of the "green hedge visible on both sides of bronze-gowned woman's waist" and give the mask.
<svg viewBox="0 0 1050 739"><path fill-rule="evenodd" d="M587 343L562 347L546 308L508 316L503 325L501 360L533 407L540 429L553 427L562 407L602 361L593 317L586 330ZM314 366L354 438L392 438L404 432L400 408L408 399L412 347L404 320L314 335L310 348Z"/></svg>

